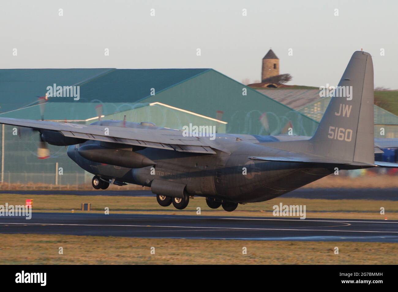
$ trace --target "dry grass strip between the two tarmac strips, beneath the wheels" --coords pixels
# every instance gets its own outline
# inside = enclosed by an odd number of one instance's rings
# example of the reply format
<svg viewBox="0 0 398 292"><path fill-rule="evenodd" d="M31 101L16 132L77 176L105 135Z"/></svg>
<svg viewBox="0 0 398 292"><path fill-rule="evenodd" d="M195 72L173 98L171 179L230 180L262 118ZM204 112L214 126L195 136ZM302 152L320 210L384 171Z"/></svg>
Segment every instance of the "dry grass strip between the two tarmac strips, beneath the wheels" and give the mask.
<svg viewBox="0 0 398 292"><path fill-rule="evenodd" d="M377 194L375 194L377 195ZM345 218L345 219L387 219L398 220L398 201L377 200L326 200L283 198L239 205L236 211L226 212L210 209L203 197L195 197L189 201L184 210L176 210L173 205L161 207L156 197L125 197L125 196L80 196L80 195L19 195L0 194L0 205L24 205L26 199L33 199L33 211L40 212L74 212L81 209L81 203L91 203L92 211L104 212L109 207L110 213L139 213L139 214L167 214L167 215L196 215L197 207L201 208L201 215L205 216L256 216L272 217L273 206L306 205L307 218ZM385 215L380 214L384 207Z"/></svg>

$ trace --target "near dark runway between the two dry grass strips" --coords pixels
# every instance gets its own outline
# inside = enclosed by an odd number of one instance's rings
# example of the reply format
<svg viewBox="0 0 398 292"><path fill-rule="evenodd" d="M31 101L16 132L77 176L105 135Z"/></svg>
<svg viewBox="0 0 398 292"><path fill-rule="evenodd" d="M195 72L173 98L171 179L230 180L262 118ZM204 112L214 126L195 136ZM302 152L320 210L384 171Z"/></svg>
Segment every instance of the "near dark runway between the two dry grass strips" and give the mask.
<svg viewBox="0 0 398 292"><path fill-rule="evenodd" d="M140 238L398 242L396 220L286 219L88 213L0 217L0 233Z"/></svg>

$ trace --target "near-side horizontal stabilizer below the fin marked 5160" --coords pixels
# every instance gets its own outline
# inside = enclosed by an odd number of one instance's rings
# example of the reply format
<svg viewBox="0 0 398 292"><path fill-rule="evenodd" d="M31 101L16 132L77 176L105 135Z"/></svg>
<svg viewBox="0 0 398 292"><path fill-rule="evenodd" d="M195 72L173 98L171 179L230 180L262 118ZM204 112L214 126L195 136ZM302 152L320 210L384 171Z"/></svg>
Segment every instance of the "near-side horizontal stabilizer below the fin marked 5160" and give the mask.
<svg viewBox="0 0 398 292"><path fill-rule="evenodd" d="M252 160L263 160L263 161L278 161L278 162L296 162L296 163L310 163L310 164L343 164L343 165L353 165L353 166L371 166L375 167L375 164L368 164L363 162L355 161L338 161L333 160L328 157L320 157L313 155L302 155L294 157L248 157Z"/></svg>

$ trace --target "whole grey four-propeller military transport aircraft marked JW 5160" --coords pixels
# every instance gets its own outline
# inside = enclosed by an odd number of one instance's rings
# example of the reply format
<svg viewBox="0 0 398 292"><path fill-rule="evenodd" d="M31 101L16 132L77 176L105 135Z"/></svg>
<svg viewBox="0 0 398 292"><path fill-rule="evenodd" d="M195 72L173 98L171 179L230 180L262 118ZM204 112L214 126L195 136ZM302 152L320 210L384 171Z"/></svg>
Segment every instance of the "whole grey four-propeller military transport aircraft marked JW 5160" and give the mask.
<svg viewBox="0 0 398 292"><path fill-rule="evenodd" d="M234 211L238 203L273 199L338 169L398 167L375 162L375 149L397 139L374 139L373 62L354 52L313 137L234 135L186 137L149 122L99 120L90 125L0 118L39 132L39 158L47 143L68 146L68 156L94 174L95 189L126 183L151 187L161 206L184 209L193 196ZM342 91L341 91L342 92ZM341 93L340 92L340 93ZM101 116L101 114L99 115Z"/></svg>

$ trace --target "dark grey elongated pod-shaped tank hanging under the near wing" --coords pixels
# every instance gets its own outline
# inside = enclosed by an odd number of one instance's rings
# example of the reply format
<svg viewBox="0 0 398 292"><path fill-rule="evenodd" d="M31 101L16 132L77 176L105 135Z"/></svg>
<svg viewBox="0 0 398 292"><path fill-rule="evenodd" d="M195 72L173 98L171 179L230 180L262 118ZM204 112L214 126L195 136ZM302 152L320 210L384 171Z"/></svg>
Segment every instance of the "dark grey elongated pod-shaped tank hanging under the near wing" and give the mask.
<svg viewBox="0 0 398 292"><path fill-rule="evenodd" d="M78 153L90 161L127 168L142 168L155 165L148 157L134 151L107 148L100 145L83 145Z"/></svg>

